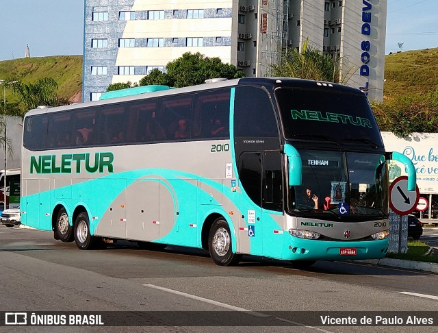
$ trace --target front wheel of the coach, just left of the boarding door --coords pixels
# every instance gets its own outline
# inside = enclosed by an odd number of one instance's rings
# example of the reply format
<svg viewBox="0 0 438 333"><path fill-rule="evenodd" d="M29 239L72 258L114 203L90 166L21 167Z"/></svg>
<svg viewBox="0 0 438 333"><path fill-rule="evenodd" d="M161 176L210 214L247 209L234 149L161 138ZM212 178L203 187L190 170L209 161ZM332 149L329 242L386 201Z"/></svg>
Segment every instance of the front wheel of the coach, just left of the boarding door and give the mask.
<svg viewBox="0 0 438 333"><path fill-rule="evenodd" d="M219 266L232 266L242 260L241 254L233 254L231 250L231 232L227 221L222 218L211 225L208 249L211 259Z"/></svg>

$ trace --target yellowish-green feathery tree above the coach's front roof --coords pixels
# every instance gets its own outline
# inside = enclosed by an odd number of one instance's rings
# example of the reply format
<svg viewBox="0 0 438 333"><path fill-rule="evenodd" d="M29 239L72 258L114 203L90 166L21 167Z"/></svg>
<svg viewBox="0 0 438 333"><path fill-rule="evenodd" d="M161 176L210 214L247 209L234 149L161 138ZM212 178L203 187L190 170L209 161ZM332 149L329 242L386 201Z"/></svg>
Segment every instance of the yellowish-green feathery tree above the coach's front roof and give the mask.
<svg viewBox="0 0 438 333"><path fill-rule="evenodd" d="M306 39L302 51L285 49L279 64L270 66L270 75L280 77L297 77L318 81L339 82L340 58L332 59L309 45Z"/></svg>

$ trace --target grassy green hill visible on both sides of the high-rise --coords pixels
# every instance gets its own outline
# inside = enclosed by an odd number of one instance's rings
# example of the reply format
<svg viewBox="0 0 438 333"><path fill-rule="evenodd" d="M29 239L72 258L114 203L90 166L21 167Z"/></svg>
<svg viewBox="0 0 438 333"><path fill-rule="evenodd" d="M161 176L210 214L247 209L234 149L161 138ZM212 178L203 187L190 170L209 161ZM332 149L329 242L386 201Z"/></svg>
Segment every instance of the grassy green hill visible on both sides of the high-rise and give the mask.
<svg viewBox="0 0 438 333"><path fill-rule="evenodd" d="M0 78L14 77L25 83L39 77L52 77L59 85L58 95L81 101L82 56L21 58L0 62ZM406 94L423 94L438 84L438 48L405 51L385 56L385 99ZM9 101L15 97L7 93Z"/></svg>

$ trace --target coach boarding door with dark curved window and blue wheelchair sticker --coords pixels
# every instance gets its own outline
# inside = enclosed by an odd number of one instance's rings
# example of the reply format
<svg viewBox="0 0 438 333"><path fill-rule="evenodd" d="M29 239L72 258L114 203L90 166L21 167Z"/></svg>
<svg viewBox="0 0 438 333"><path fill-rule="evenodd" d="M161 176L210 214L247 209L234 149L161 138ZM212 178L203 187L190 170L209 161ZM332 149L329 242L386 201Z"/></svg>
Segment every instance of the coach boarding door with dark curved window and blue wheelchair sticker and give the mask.
<svg viewBox="0 0 438 333"><path fill-rule="evenodd" d="M263 219L261 219L261 158L260 152L244 152L239 157L240 196L239 249L240 252L261 255Z"/></svg>

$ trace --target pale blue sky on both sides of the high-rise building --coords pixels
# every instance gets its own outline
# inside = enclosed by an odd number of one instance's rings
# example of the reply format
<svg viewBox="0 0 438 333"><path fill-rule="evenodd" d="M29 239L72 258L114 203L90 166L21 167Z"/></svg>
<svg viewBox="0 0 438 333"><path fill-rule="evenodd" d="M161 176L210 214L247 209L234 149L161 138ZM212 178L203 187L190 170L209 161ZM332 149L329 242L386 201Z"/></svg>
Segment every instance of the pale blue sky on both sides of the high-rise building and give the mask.
<svg viewBox="0 0 438 333"><path fill-rule="evenodd" d="M438 0L387 1L385 54L438 47ZM26 45L31 57L83 54L83 0L0 0L0 8L0 61L23 58Z"/></svg>

